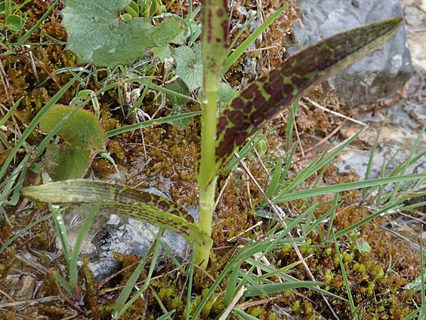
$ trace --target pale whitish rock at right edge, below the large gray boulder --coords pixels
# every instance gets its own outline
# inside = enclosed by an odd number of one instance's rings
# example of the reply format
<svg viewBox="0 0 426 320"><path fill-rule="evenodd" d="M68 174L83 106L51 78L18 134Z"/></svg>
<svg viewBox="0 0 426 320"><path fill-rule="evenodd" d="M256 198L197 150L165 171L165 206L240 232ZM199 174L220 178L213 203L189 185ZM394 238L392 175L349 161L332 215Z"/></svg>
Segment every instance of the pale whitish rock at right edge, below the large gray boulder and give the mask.
<svg viewBox="0 0 426 320"><path fill-rule="evenodd" d="M426 135L422 134L419 137L422 127L426 126L426 75L421 70L416 68L406 95L405 99L400 99L395 104L381 110L383 114L389 114L388 122L383 127L378 139L378 148L371 164L370 178L378 178L384 164L387 164L390 159L393 159L393 161L388 164L388 168L384 172L385 176L391 174L391 171L396 169L398 165L407 161L417 139L418 146L415 155L426 150ZM356 171L362 179L366 175L370 157L370 152L366 149L373 145L383 117L368 115L360 120L370 124L366 132L361 134L359 138L365 147L356 146L346 149L342 154L339 154L334 165L337 166L340 173ZM344 138L351 137L359 129L361 128L358 125L347 124L342 129L341 134ZM420 157L405 170L405 174L422 174L424 172L426 172L426 156Z"/></svg>

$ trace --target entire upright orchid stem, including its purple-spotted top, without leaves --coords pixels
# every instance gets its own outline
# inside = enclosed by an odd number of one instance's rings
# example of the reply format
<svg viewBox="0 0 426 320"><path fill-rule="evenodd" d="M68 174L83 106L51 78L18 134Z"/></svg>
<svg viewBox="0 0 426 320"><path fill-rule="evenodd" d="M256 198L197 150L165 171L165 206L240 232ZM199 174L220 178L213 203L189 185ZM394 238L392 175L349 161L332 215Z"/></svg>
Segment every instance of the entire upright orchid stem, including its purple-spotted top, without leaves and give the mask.
<svg viewBox="0 0 426 320"><path fill-rule="evenodd" d="M228 12L225 0L202 1L202 65L203 79L201 115L201 159L197 175L200 186L200 228L212 235L214 191L217 181L216 124L217 91L228 54ZM196 248L195 263L206 269L210 242Z"/></svg>

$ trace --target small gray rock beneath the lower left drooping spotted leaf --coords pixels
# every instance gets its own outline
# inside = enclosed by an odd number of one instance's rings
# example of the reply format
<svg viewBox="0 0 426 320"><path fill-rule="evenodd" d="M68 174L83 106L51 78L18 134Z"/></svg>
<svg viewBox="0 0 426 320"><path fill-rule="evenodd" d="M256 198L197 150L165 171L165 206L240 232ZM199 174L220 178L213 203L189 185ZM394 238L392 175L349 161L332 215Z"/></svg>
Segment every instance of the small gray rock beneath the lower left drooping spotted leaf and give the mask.
<svg viewBox="0 0 426 320"><path fill-rule="evenodd" d="M165 196L158 189L145 189L151 193ZM167 196L165 196L167 198ZM190 210L195 219L198 220L199 213ZM90 208L80 206L69 209L64 217L67 225L67 238L71 247L74 247L78 234L82 228L84 220L90 213ZM94 278L99 282L114 272L119 270L119 262L114 259L114 252L121 255L138 255L143 257L155 240L158 234L158 227L143 223L141 221L122 218L118 215L104 215L98 213L92 221L80 247L80 258L85 255L89 258L89 269L93 272ZM190 244L180 235L166 230L160 238L168 248L168 252L182 261L187 258L190 252ZM57 245L60 242L57 239ZM165 250L160 247L160 258L165 255ZM80 261L81 263L81 261ZM160 261L157 261L160 263Z"/></svg>

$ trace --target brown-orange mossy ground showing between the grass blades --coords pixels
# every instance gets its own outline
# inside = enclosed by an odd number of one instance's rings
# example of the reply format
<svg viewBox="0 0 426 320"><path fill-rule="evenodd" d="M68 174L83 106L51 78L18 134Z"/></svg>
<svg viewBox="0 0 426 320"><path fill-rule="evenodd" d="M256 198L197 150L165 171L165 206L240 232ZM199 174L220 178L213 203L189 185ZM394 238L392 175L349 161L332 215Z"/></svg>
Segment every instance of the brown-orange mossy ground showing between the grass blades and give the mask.
<svg viewBox="0 0 426 320"><path fill-rule="evenodd" d="M279 6L288 1L263 1L263 14L268 16ZM163 1L166 5L168 1ZM23 6L22 11L28 14L30 28L48 9L49 1L34 0ZM60 26L60 9L57 6L50 14L40 30L28 39L31 42L40 42L41 34L45 33L60 41L66 41L65 30ZM236 1L235 6L243 6L247 10L256 9L255 1ZM179 14L182 8L178 2L173 4ZM237 8L236 8L237 9ZM231 30L246 18L234 11ZM226 74L226 80L237 86L241 82L249 82L266 70L273 68L285 57L283 43L291 41L290 22L297 18L297 9L291 7L287 14L256 43L258 48L267 50L248 53L237 61L236 65ZM0 16L1 19L1 16ZM1 22L1 21L0 21ZM237 33L237 28L232 33ZM43 38L43 41L46 41ZM241 38L241 41L244 39ZM247 67L246 61L255 61ZM20 97L21 104L11 119L1 128L1 159L5 159L13 147L16 137L19 137L26 125L52 97L59 87L70 80L69 73L58 73L57 70L65 67L75 67L77 59L65 50L62 44L31 46L18 48L14 54L1 53L1 70L4 79L0 85L0 106L2 116L8 108ZM160 73L162 68L158 68ZM6 82L7 80L7 82ZM99 89L101 81L95 83L92 78L87 79L87 89ZM64 105L70 104L75 96L77 87L73 86L60 99ZM316 102L339 110L338 99L333 90L327 85L316 87L310 92ZM136 119L125 119L119 107L119 93L111 90L100 99L100 122L105 130L131 124ZM6 107L7 106L7 107ZM159 102L155 95L148 94L144 101L143 111L153 114L158 110ZM188 103L189 110L198 110L199 106ZM170 108L163 108L156 117L168 115ZM288 110L282 117L274 119L271 126L283 124L285 128ZM297 114L297 128L305 149L317 143L317 138L325 137L339 125L341 119L305 105ZM265 128L265 130L268 128ZM347 129L346 129L347 130ZM33 132L27 139L30 148L37 146L43 139L43 134ZM271 166L275 159L282 156L285 148L285 129L278 129L268 137L268 149L263 160L253 155L246 161L251 174L265 188L269 177L263 169L263 164ZM195 180L195 161L200 146L200 123L198 119L183 130L178 130L172 124L155 125L141 132L121 134L109 139L107 151L114 158L116 164L125 169L124 182L139 188L155 187L165 192L176 203L182 206L197 206L197 184ZM309 164L317 154L320 154L324 145L315 147L305 157L300 156L291 166L291 180L303 166ZM302 152L303 150L297 150ZM23 159L26 151L18 154L13 166L17 166ZM266 159L266 160L265 160ZM9 168L9 172L13 170ZM106 178L115 173L114 166L101 157L96 157L87 174L97 178ZM6 175L7 176L7 175ZM220 176L217 192L225 185L227 176ZM121 177L123 178L123 177ZM356 181L359 178L353 170L342 174L335 167L330 167L318 181L320 184L342 183ZM307 181L312 183L314 181ZM38 172L29 171L25 184L40 183ZM353 225L362 218L371 214L365 206L360 206L361 195L358 191L346 192L342 204L337 208L334 220L336 231ZM317 201L329 201L330 198L318 198ZM211 256L211 266L207 272L209 277L216 278L222 271L224 264L244 245L247 239L261 237L273 226L273 220L264 219L263 225L249 232L244 231L255 225L258 218L255 215L256 206L261 203L261 194L251 183L246 173L240 169L234 171L231 181L227 183L224 194L219 201L214 220L212 238L214 247ZM280 206L297 216L303 213L310 203L294 201L280 203ZM315 216L320 218L330 210L332 203L326 202L315 210ZM97 283L87 267L88 261L83 258L80 268L80 291L69 296L55 281L55 272L64 272L63 257L55 242L55 228L50 219L35 223L28 230L21 231L48 213L45 206L30 203L21 198L16 206L5 206L9 222L0 220L0 244L4 245L13 235L19 234L11 245L0 255L0 319L110 319L114 302L120 288L138 262L139 257L134 255L116 255L121 270L108 281ZM406 223L398 228L387 228L394 223L390 218L381 217L359 228L357 234L351 237L342 237L337 240L344 261L344 267L351 284L351 292L355 305L362 306L363 319L403 319L420 304L420 293L405 287L420 274L419 234ZM327 224L322 223L321 229L326 232ZM396 234L395 234L396 233ZM229 238L237 237L236 242ZM359 244L368 243L371 250L364 252ZM346 297L346 289L342 272L337 259L334 242L322 244L320 233L310 234L305 245L300 246L302 255L312 255L307 259L307 265L318 281L325 283L324 288L339 297ZM298 261L292 247L286 246L268 257L271 265L283 267ZM142 272L139 280L146 279L148 270ZM62 273L66 274L66 272ZM301 265L289 272L298 279L309 279ZM155 299L156 293L166 309L176 309L175 319L183 319L186 304L186 277L175 269L173 262L164 258L163 264L155 270L154 280L144 295L144 301L137 299L131 308L126 311L122 319L139 319L141 315L148 319L156 319L163 314ZM209 277L198 274L193 289L194 299L192 310L200 299L204 297L206 289L211 285ZM209 307L202 312L202 319L216 319L223 311L223 292L226 289L224 282L217 292L217 299L212 300ZM257 298L256 298L257 299ZM258 319L332 319L332 314L320 297L320 294L307 289L293 290L276 294L271 300L249 300L246 313ZM243 301L244 300L244 301ZM249 302L256 302L250 304ZM330 297L329 303L340 319L351 319L351 309L347 302Z"/></svg>

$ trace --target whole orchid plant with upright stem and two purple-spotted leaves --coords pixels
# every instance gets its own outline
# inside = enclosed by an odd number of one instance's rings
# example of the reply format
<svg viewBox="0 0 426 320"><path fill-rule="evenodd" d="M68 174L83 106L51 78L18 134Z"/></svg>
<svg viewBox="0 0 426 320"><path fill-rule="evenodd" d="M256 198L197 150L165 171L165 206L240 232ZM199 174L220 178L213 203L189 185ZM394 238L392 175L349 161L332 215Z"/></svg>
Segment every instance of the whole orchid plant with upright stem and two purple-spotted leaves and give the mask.
<svg viewBox="0 0 426 320"><path fill-rule="evenodd" d="M400 18L371 23L320 41L284 60L251 82L217 115L217 94L229 53L226 0L202 3L203 82L201 149L197 165L200 223L166 198L102 181L73 179L23 188L23 196L54 204L99 205L99 212L143 220L182 235L194 245L195 262L207 267L212 248L212 215L217 176L222 165L269 119L322 80L388 41Z"/></svg>

